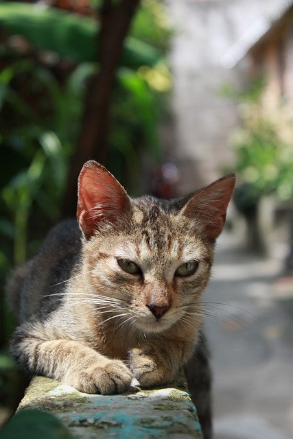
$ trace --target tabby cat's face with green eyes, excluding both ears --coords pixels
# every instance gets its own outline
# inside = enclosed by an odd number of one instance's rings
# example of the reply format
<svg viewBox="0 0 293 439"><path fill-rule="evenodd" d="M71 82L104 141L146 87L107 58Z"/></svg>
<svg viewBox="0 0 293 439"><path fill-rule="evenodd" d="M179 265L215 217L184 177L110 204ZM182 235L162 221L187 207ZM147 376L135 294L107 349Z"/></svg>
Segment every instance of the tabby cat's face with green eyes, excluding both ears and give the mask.
<svg viewBox="0 0 293 439"><path fill-rule="evenodd" d="M104 318L145 333L200 318L200 293L213 259L213 246L202 242L188 220L160 210L155 221L137 215L126 230L108 227L106 237L98 232L86 242L86 272L102 296Z"/></svg>

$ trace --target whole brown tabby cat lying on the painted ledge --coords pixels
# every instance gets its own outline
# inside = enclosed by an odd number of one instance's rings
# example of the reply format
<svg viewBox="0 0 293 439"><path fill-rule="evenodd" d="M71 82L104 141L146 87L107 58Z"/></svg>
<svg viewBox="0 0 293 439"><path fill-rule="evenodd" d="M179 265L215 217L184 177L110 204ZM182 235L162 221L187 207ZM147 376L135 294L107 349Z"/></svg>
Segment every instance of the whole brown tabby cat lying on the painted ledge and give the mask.
<svg viewBox="0 0 293 439"><path fill-rule="evenodd" d="M115 394L132 377L150 388L185 366L210 438L201 295L234 185L231 174L187 197L132 199L105 167L86 162L77 221L53 228L8 280L20 320L10 348L21 368Z"/></svg>

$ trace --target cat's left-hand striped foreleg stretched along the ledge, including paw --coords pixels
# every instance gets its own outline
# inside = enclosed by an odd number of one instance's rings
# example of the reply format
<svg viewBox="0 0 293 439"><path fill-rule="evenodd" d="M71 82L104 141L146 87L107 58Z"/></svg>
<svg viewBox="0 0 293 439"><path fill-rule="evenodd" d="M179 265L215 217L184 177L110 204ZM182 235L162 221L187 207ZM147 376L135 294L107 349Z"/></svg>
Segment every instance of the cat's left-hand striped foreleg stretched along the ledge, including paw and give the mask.
<svg viewBox="0 0 293 439"><path fill-rule="evenodd" d="M40 322L21 325L12 335L12 356L28 372L58 379L80 392L127 390L132 373L123 361L108 359L81 342L60 340L55 332Z"/></svg>

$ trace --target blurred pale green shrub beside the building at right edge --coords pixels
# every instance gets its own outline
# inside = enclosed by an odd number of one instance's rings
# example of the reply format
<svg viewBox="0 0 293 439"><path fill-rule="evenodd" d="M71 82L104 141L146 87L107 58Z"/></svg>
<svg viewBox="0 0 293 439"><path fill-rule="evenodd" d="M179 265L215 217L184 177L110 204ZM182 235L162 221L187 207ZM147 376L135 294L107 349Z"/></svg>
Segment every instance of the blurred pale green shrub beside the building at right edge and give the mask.
<svg viewBox="0 0 293 439"><path fill-rule="evenodd" d="M293 130L283 108L268 110L263 104L265 82L257 81L238 95L242 128L233 136L236 171L244 183L240 204L252 205L261 195L279 200L293 198ZM237 191L235 192L237 194Z"/></svg>

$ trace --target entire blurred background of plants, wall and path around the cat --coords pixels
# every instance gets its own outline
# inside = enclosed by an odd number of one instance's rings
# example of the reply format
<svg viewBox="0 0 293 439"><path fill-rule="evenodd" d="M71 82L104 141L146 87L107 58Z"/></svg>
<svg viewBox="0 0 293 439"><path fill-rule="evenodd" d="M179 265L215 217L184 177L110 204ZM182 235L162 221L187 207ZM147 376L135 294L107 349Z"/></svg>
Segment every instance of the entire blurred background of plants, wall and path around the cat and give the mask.
<svg viewBox="0 0 293 439"><path fill-rule="evenodd" d="M103 163L131 195L235 171L207 291L215 439L293 437L293 1L0 3L0 424L26 381L5 278Z"/></svg>

